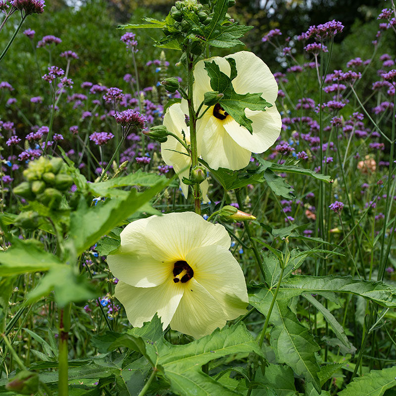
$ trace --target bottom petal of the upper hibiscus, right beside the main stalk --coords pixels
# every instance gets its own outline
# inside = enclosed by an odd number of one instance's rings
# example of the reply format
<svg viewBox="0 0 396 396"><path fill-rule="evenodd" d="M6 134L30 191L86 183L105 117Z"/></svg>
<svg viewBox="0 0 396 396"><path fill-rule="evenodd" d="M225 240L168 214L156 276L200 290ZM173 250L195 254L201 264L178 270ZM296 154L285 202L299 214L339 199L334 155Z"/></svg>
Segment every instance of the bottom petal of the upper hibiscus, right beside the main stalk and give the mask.
<svg viewBox="0 0 396 396"><path fill-rule="evenodd" d="M250 161L251 151L242 148L224 129L223 121L209 109L197 123L198 152L208 165L217 170L242 169Z"/></svg>

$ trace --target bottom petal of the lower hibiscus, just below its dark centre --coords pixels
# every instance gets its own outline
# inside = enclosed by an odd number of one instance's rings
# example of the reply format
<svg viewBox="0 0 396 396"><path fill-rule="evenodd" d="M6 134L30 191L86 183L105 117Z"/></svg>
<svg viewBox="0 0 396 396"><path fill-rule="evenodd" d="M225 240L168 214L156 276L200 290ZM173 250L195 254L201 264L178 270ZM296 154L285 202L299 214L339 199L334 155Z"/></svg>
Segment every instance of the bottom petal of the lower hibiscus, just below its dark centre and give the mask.
<svg viewBox="0 0 396 396"><path fill-rule="evenodd" d="M218 301L194 278L186 286L170 322L171 329L200 338L222 328L226 318Z"/></svg>

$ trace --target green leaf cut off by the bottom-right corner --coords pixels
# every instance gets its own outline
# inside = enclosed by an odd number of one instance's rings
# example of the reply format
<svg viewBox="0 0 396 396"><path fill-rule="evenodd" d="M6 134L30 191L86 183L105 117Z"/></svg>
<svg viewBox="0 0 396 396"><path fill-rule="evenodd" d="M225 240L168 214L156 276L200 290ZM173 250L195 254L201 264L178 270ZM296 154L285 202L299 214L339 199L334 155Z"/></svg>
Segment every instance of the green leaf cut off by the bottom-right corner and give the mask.
<svg viewBox="0 0 396 396"><path fill-rule="evenodd" d="M370 374L354 378L339 396L382 396L387 389L396 387L396 366L371 370Z"/></svg>

